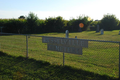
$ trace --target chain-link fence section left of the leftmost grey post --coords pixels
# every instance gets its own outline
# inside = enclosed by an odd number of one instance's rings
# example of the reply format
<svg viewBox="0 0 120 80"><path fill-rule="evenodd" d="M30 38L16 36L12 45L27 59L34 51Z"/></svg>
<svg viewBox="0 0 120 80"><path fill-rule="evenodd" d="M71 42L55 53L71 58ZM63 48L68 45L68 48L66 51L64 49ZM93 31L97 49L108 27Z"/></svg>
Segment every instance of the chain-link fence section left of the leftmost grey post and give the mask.
<svg viewBox="0 0 120 80"><path fill-rule="evenodd" d="M26 56L26 36L0 35L0 51L14 56Z"/></svg>

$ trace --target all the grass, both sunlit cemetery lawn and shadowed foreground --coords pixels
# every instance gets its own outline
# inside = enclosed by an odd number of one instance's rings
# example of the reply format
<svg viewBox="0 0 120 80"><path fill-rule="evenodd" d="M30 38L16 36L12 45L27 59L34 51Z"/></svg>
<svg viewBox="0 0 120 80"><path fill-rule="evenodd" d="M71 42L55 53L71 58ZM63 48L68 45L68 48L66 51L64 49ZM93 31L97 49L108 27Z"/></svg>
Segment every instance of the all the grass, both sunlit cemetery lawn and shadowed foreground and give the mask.
<svg viewBox="0 0 120 80"><path fill-rule="evenodd" d="M69 38L120 41L119 31L95 31L69 33ZM41 36L65 37L65 33L34 34ZM48 51L41 37L28 39L29 59L26 56L26 36L0 36L0 75L16 79L50 80L112 80L119 73L119 43L88 41L83 55ZM21 56L21 57L19 57ZM71 67L70 67L71 66Z"/></svg>

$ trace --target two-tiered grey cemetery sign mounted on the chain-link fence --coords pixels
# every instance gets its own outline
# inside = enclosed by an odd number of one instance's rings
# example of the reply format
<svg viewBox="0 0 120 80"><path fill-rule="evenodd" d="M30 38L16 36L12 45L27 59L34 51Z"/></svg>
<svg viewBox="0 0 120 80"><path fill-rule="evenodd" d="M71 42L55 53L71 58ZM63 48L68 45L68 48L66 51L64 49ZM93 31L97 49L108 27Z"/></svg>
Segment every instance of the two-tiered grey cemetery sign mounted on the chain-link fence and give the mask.
<svg viewBox="0 0 120 80"><path fill-rule="evenodd" d="M47 50L80 55L82 55L82 47L88 47L87 40L74 38L42 37L42 42L48 43Z"/></svg>

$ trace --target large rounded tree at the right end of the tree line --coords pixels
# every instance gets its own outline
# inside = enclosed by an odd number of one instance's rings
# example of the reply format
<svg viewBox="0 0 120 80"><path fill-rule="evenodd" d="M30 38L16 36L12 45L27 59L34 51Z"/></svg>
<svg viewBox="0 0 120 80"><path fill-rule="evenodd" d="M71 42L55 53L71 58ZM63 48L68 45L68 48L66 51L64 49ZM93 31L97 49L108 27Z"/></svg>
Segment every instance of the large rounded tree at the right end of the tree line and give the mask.
<svg viewBox="0 0 120 80"><path fill-rule="evenodd" d="M115 30L118 29L119 25L119 20L116 18L115 15L104 15L104 17L101 20L100 23L100 28L104 29L104 30Z"/></svg>

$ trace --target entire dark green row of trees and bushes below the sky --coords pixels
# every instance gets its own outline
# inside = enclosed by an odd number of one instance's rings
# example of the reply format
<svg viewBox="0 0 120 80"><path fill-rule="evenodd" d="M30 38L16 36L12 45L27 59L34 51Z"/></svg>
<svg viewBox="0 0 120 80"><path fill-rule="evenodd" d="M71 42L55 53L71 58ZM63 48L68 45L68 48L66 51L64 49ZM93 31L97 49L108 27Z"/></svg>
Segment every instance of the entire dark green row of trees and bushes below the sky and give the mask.
<svg viewBox="0 0 120 80"><path fill-rule="evenodd" d="M49 17L41 20L34 13L30 12L27 17L20 16L18 19L0 19L0 27L6 33L19 34L37 34L49 32L81 32L86 30L96 30L99 25L100 29L115 30L120 28L120 21L115 15L104 15L99 21L88 20L88 16L79 16L77 19L64 20L61 16ZM79 24L83 23L84 27L80 28Z"/></svg>

